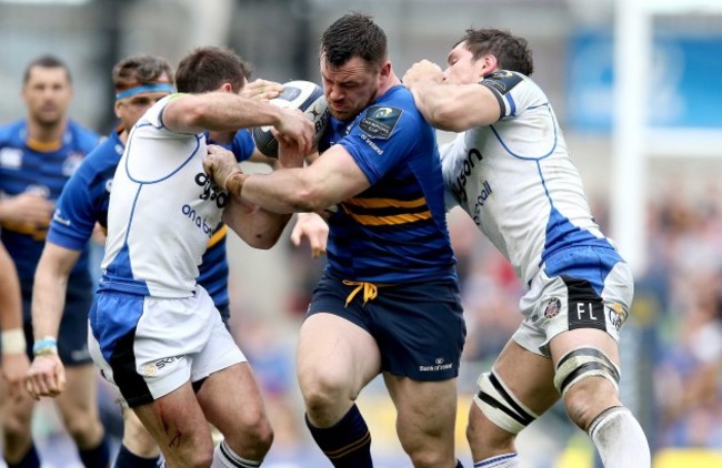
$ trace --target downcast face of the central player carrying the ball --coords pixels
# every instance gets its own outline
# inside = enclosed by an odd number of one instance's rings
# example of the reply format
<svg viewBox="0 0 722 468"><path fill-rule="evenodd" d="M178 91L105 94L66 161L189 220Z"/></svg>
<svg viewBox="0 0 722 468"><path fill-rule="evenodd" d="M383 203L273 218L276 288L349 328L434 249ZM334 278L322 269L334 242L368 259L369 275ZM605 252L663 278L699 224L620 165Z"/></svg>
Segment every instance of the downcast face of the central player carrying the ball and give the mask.
<svg viewBox="0 0 722 468"><path fill-rule="evenodd" d="M380 71L369 70L359 57L339 68L329 65L321 57L321 78L331 114L341 121L349 121L375 99Z"/></svg>

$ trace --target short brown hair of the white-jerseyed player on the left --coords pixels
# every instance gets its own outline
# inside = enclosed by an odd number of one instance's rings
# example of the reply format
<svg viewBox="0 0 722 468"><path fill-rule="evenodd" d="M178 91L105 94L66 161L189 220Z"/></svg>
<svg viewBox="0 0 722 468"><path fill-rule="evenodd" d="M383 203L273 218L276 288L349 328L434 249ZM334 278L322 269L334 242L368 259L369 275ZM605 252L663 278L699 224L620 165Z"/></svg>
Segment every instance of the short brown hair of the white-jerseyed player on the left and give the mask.
<svg viewBox="0 0 722 468"><path fill-rule="evenodd" d="M235 52L219 47L193 49L178 64L176 87L182 93L214 91L231 83L233 91L243 88L243 79L251 78L251 68Z"/></svg>

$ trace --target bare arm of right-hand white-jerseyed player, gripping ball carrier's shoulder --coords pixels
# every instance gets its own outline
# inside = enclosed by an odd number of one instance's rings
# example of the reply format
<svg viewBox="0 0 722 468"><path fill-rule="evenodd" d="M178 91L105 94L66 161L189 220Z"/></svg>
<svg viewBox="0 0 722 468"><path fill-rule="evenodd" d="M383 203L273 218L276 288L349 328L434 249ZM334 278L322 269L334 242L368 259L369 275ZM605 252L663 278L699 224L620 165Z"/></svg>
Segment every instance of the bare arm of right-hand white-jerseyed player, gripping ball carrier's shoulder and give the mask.
<svg viewBox="0 0 722 468"><path fill-rule="evenodd" d="M424 119L437 129L463 132L499 121L501 108L487 87L423 81L410 87Z"/></svg>

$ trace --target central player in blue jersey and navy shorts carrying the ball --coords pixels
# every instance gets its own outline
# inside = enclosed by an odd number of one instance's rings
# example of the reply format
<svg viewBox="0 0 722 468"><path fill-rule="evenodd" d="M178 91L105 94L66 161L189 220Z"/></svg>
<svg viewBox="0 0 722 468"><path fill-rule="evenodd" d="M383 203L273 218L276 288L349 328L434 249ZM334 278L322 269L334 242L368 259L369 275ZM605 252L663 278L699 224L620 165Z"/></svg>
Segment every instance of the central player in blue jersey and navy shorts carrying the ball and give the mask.
<svg viewBox="0 0 722 468"><path fill-rule="evenodd" d="M413 465L453 468L465 325L434 130L370 17L337 20L320 53L332 115L322 154L271 174L242 174L214 154L207 166L222 187L267 210L332 213L328 265L297 352L308 427L331 462L372 466L355 399L382 374Z"/></svg>

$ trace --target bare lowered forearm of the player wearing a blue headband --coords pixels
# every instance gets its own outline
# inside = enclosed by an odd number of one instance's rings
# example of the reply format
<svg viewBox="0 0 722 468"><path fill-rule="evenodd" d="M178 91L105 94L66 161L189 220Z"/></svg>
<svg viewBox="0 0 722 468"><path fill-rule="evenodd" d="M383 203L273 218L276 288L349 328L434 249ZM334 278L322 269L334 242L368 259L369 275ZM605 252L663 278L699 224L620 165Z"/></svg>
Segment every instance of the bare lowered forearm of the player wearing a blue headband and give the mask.
<svg viewBox="0 0 722 468"><path fill-rule="evenodd" d="M58 336L68 278L80 254L80 251L46 243L32 287L32 328L36 339Z"/></svg>

